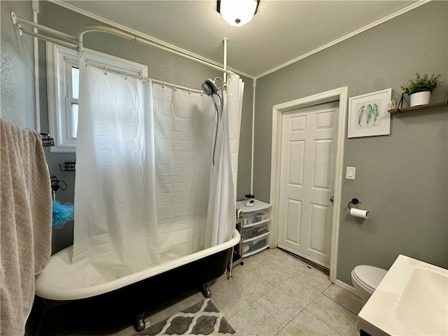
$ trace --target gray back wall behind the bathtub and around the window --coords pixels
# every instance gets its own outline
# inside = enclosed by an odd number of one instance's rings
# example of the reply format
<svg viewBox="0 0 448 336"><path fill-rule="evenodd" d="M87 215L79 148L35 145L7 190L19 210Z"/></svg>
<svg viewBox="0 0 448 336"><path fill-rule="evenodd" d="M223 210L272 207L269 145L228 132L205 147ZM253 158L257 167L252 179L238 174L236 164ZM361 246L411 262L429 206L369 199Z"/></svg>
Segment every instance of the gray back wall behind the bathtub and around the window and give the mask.
<svg viewBox="0 0 448 336"><path fill-rule="evenodd" d="M47 27L52 27L59 31L64 31L67 34L76 35L80 27L86 25L104 25L102 22L97 22L90 18L74 13L71 10L62 8L50 3L48 1L40 1L39 8L39 23ZM84 36L85 48L106 52L110 55L130 59L134 62L146 64L148 66L148 76L153 79L164 80L167 83L174 83L181 86L192 87L193 89L200 89L201 83L205 78L222 77L222 73L214 71L213 69L192 62L188 59L178 57L162 50L155 48L148 48L144 45L132 43L125 40L104 33L89 33ZM45 67L45 44L39 43L40 50L40 87L41 87L41 111L48 111L47 107L47 91L46 91L46 67ZM242 78L246 85L244 93L243 116L241 120L241 128L248 129L251 125L252 118L252 80L249 78ZM41 113L42 128L48 132L48 115L45 112ZM250 128L249 128L250 129ZM249 146L251 141L251 134L241 132L241 144L244 148ZM247 145L248 144L248 145ZM243 149L244 151L244 149ZM50 173L55 174L59 180L64 181L68 187L65 191L57 192L57 199L61 202L73 202L74 198L74 178L73 172L60 172L59 163L67 161L75 161L75 155L71 153L50 153L47 154L48 165ZM245 176L250 176L250 155L241 155L239 160L239 171L242 179L238 181L237 197L244 197L250 188L250 180ZM53 252L73 244L73 222L67 223L64 228L60 230L53 230L52 239Z"/></svg>

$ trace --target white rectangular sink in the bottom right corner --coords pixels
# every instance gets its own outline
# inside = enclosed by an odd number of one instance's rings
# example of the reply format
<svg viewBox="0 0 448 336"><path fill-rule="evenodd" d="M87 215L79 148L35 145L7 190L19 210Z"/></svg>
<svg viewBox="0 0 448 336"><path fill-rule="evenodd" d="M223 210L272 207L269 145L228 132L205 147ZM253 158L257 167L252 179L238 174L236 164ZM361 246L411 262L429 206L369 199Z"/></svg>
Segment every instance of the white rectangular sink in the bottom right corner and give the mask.
<svg viewBox="0 0 448 336"><path fill-rule="evenodd" d="M370 335L448 335L448 269L399 255L358 327Z"/></svg>

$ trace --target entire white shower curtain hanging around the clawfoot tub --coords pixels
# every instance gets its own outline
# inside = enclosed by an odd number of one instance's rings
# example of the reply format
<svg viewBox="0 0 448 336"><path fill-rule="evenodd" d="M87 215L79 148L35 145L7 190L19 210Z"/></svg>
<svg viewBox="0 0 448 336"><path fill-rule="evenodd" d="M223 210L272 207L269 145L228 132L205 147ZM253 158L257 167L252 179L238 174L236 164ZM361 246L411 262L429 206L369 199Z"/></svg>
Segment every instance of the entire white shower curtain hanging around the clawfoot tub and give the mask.
<svg viewBox="0 0 448 336"><path fill-rule="evenodd" d="M78 281L102 283L230 239L241 93L232 76L213 167L210 97L80 64Z"/></svg>

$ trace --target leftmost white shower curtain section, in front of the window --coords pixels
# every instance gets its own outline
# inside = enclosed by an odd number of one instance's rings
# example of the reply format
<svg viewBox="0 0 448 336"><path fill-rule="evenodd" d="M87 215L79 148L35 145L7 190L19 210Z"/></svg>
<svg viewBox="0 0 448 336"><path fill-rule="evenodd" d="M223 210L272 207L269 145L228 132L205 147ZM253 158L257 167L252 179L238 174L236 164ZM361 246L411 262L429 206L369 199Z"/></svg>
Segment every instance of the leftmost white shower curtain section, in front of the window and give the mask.
<svg viewBox="0 0 448 336"><path fill-rule="evenodd" d="M90 269L83 283L160 262L151 91L80 61L72 263Z"/></svg>

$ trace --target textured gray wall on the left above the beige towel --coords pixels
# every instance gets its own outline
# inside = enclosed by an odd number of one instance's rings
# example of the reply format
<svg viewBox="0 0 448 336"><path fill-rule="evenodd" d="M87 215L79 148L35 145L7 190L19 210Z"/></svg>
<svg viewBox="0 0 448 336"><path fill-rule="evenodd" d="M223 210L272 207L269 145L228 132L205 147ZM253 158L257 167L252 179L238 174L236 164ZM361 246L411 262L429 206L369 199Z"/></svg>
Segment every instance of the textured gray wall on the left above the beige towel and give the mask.
<svg viewBox="0 0 448 336"><path fill-rule="evenodd" d="M11 10L33 20L31 1L0 1L0 116L9 123L35 129L33 38L20 37L11 20Z"/></svg>

